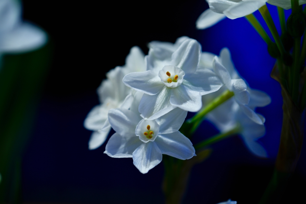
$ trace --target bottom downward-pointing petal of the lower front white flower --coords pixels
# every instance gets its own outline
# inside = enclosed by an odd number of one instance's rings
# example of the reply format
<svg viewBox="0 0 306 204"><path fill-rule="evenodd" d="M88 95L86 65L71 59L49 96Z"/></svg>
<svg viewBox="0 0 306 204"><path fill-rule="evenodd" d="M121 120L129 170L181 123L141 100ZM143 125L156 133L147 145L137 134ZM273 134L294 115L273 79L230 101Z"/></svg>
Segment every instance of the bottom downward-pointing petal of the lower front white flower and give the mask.
<svg viewBox="0 0 306 204"><path fill-rule="evenodd" d="M147 173L162 161L162 152L155 142L142 143L133 152L133 164L141 173Z"/></svg>

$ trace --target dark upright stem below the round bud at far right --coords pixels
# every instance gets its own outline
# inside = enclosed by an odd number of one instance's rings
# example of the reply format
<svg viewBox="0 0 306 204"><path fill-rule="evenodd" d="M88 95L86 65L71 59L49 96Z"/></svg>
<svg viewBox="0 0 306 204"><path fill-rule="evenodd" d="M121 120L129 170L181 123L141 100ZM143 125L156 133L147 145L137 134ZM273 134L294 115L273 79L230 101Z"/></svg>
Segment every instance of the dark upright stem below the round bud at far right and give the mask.
<svg viewBox="0 0 306 204"><path fill-rule="evenodd" d="M300 82L300 38L294 39L293 45L293 86L292 86L292 100L297 103L299 94Z"/></svg>

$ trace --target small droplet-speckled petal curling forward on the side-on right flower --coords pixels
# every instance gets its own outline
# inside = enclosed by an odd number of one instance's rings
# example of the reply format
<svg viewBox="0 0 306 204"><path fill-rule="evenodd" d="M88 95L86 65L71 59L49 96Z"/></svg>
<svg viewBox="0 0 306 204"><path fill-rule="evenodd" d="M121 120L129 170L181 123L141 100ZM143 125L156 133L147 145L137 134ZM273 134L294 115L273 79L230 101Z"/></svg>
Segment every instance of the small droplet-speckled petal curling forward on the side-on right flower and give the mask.
<svg viewBox="0 0 306 204"><path fill-rule="evenodd" d="M247 85L242 79L233 79L233 92L238 103L247 105L250 101L250 94L247 91Z"/></svg>

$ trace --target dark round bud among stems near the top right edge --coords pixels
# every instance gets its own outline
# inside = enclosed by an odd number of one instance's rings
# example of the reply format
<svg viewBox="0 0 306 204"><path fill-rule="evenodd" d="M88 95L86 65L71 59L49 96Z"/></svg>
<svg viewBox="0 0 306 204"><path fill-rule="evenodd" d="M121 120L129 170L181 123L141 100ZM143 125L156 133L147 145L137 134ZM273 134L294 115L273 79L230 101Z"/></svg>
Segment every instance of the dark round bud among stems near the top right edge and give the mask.
<svg viewBox="0 0 306 204"><path fill-rule="evenodd" d="M302 37L305 30L305 18L302 13L291 14L287 20L287 30L294 38Z"/></svg>

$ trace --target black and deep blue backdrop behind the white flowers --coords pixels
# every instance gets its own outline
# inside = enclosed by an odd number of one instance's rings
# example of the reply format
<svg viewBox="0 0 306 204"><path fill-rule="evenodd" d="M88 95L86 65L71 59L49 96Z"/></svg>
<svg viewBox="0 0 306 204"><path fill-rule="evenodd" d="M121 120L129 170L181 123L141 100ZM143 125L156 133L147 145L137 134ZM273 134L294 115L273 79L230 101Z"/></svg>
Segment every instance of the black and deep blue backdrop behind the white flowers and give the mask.
<svg viewBox="0 0 306 204"><path fill-rule="evenodd" d="M105 73L124 65L132 46L140 46L147 54L148 42L174 43L182 35L197 39L203 51L218 54L222 47L228 47L237 70L250 87L272 98L269 106L257 109L266 117L267 134L260 142L269 158L253 156L239 136L213 145L211 157L192 170L184 203L215 204L229 198L239 204L258 202L277 155L282 97L279 84L270 77L275 60L244 18L226 19L212 28L196 30L196 19L208 8L204 0L23 1L23 8L24 19L43 28L53 47L31 139L23 156L24 202L163 202L162 163L143 175L131 158L103 154L106 143L88 150L91 131L83 127L83 121L99 104L95 90ZM279 29L276 8L269 9ZM260 14L255 14L263 22ZM216 133L213 125L205 122L195 141ZM304 149L284 201L298 200L306 190Z"/></svg>

